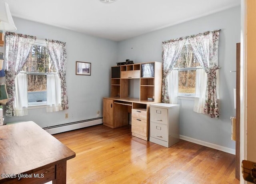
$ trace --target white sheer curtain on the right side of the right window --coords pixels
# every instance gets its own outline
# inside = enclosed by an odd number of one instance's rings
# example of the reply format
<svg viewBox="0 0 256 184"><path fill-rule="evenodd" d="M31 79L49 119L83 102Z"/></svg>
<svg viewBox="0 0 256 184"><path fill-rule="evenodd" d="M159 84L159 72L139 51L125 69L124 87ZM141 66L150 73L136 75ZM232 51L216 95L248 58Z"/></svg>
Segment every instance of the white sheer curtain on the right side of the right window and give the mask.
<svg viewBox="0 0 256 184"><path fill-rule="evenodd" d="M203 68L197 68L198 69L196 69L196 96L194 101L194 111L197 113L203 113L205 104L207 74Z"/></svg>

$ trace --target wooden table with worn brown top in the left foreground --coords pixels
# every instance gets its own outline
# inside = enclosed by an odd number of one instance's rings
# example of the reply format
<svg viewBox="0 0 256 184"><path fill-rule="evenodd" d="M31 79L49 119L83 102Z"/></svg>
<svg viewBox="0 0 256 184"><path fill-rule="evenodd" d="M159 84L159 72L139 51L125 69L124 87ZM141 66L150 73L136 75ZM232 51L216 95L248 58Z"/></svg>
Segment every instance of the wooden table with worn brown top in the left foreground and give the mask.
<svg viewBox="0 0 256 184"><path fill-rule="evenodd" d="M0 183L66 183L76 153L33 121L0 126Z"/></svg>

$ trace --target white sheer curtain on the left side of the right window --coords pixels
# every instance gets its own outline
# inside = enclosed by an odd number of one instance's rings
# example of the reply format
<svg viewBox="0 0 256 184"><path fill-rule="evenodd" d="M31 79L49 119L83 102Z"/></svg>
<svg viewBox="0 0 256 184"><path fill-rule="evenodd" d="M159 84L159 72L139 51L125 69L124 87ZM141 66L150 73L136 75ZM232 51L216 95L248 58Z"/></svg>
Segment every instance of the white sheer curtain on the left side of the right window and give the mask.
<svg viewBox="0 0 256 184"><path fill-rule="evenodd" d="M170 94L170 103L177 104L178 102L178 79L179 71L178 68L172 69L171 73L168 75L168 86Z"/></svg>

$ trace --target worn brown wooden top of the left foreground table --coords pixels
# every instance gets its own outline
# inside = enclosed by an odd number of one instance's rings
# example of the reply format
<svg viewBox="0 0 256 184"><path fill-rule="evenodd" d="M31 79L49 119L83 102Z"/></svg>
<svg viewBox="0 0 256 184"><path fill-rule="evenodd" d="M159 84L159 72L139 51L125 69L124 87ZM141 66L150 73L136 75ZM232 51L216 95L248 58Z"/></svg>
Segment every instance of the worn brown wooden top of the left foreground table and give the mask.
<svg viewBox="0 0 256 184"><path fill-rule="evenodd" d="M0 174L33 173L75 156L33 121L0 126Z"/></svg>

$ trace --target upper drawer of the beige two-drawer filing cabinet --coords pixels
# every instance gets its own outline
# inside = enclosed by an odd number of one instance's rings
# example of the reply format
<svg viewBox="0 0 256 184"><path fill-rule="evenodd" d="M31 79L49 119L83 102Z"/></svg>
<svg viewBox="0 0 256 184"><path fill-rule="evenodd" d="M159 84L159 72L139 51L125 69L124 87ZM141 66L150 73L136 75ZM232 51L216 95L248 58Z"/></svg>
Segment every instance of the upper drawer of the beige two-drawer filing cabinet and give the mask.
<svg viewBox="0 0 256 184"><path fill-rule="evenodd" d="M167 125L168 110L158 107L150 107L150 121Z"/></svg>

